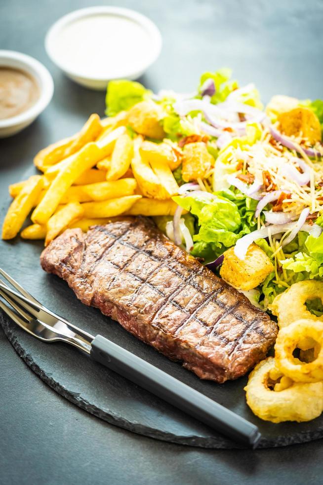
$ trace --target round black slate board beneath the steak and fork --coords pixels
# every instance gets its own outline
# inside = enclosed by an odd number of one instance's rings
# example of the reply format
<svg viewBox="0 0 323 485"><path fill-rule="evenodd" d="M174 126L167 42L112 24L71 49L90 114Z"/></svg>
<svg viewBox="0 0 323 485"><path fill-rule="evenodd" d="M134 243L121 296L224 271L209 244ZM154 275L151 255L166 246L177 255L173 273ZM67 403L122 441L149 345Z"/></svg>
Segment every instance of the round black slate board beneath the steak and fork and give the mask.
<svg viewBox="0 0 323 485"><path fill-rule="evenodd" d="M7 203L1 209L3 220ZM201 381L179 363L135 339L99 310L83 305L61 279L40 268L42 242L0 242L0 266L48 308L64 315L92 335L101 334L160 367L259 427L260 447L276 447L323 437L323 417L308 423L272 424L259 420L245 403L246 378L224 385ZM20 330L4 315L0 323L27 365L51 388L99 418L145 436L204 448L237 448L236 443L210 431L161 399L92 362L64 343L46 344Z"/></svg>

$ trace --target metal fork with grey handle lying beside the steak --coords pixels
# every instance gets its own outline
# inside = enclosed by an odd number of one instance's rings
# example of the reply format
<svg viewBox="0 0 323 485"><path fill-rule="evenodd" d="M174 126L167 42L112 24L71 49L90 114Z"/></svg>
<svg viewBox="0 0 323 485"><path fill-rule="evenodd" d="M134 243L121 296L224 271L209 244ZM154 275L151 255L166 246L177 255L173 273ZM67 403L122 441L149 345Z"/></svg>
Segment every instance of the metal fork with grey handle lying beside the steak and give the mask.
<svg viewBox="0 0 323 485"><path fill-rule="evenodd" d="M101 335L94 337L72 325L43 306L1 268L0 275L16 290L0 279L0 308L29 334L45 342L60 340L74 345L215 431L252 448L259 444L261 434L254 424L109 339Z"/></svg>

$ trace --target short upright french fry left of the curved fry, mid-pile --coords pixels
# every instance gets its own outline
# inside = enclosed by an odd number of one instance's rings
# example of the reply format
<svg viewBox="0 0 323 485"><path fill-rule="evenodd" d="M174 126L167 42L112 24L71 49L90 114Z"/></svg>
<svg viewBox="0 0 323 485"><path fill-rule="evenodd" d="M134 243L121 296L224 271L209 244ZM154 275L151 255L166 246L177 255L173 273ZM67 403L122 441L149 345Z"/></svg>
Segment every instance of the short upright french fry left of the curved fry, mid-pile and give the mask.
<svg viewBox="0 0 323 485"><path fill-rule="evenodd" d="M124 133L118 138L113 149L110 167L107 171L107 180L120 179L130 167L132 155L132 140L127 133Z"/></svg>

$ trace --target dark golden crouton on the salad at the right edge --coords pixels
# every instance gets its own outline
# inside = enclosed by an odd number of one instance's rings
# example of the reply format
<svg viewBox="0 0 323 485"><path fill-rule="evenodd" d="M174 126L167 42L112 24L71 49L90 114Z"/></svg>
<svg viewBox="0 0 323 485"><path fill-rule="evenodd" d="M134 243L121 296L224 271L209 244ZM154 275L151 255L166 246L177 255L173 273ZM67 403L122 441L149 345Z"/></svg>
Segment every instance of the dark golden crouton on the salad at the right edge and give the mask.
<svg viewBox="0 0 323 485"><path fill-rule="evenodd" d="M322 138L319 118L309 108L294 108L278 116L280 130L287 136L306 138L311 145Z"/></svg>

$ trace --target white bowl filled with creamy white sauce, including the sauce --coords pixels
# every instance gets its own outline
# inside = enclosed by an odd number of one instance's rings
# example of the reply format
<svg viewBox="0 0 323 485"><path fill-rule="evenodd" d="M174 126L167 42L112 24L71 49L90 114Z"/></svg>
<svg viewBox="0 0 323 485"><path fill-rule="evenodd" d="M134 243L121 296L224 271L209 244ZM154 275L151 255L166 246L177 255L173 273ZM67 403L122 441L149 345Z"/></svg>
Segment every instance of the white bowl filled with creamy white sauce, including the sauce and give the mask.
<svg viewBox="0 0 323 485"><path fill-rule="evenodd" d="M57 20L45 38L50 59L73 81L105 90L137 79L161 52L161 33L144 15L114 6L81 8Z"/></svg>

